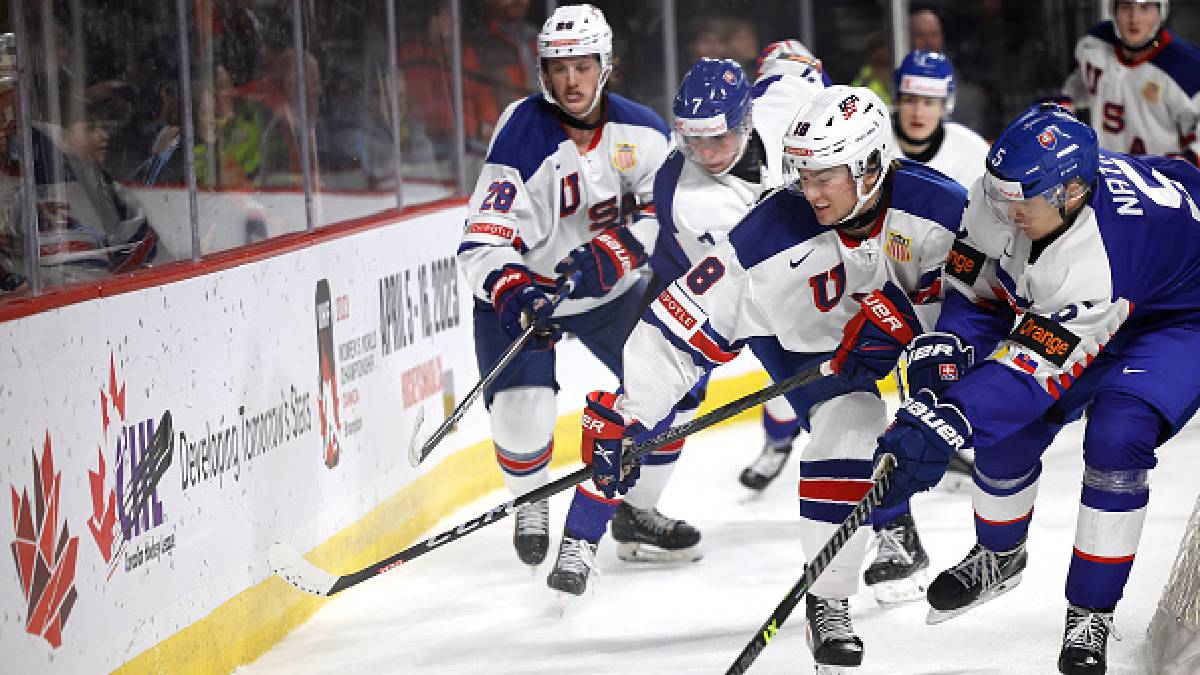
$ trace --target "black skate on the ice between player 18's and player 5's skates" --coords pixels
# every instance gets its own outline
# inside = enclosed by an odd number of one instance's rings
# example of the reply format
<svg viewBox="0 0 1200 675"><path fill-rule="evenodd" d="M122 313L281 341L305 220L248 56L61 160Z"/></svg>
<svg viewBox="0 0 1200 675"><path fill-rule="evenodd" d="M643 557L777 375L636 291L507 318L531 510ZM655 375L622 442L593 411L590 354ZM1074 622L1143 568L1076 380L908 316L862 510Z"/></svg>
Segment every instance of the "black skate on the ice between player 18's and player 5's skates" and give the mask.
<svg viewBox="0 0 1200 675"><path fill-rule="evenodd" d="M906 513L877 532L878 552L863 573L882 607L894 607L925 597L929 556L920 545L917 524Z"/></svg>

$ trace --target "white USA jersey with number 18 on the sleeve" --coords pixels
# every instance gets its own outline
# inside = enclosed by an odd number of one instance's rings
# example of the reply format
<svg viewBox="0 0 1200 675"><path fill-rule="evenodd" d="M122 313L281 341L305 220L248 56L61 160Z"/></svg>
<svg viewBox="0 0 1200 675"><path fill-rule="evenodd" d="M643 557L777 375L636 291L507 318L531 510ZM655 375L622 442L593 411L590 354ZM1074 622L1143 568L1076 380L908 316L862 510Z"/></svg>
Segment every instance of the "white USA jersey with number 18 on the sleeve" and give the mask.
<svg viewBox="0 0 1200 675"><path fill-rule="evenodd" d="M830 353L859 311L854 294L889 280L917 303L936 303L966 191L908 161L890 180L880 229L862 243L822 226L803 196L769 193L643 315L625 344L626 411L660 419L703 371L732 360L750 338L774 336L790 352Z"/></svg>

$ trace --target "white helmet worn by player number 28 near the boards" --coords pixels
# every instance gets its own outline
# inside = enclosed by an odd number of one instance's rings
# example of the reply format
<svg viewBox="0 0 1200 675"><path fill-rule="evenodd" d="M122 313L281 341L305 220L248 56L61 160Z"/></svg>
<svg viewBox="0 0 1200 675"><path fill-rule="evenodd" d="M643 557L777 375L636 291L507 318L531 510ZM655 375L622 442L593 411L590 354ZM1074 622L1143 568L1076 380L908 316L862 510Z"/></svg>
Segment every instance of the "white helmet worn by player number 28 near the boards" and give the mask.
<svg viewBox="0 0 1200 675"><path fill-rule="evenodd" d="M600 82L596 84L592 104L583 113L584 117L592 114L600 102L604 85L612 74L612 29L608 28L604 12L592 5L556 7L554 13L546 19L538 34L538 84L541 85L541 95L559 108L563 107L546 82L545 59L589 54L600 58ZM565 108L563 110L565 112Z"/></svg>

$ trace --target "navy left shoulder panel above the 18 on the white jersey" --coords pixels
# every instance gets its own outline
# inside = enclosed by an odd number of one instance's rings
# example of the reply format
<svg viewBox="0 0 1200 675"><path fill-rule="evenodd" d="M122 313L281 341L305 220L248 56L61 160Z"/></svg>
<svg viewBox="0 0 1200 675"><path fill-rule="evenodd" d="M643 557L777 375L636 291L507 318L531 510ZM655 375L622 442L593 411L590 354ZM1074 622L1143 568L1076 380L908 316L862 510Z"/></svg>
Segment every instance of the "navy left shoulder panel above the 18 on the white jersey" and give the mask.
<svg viewBox="0 0 1200 675"><path fill-rule="evenodd" d="M743 269L829 232L817 222L809 202L787 190L776 189L758 202L730 232L730 241Z"/></svg>

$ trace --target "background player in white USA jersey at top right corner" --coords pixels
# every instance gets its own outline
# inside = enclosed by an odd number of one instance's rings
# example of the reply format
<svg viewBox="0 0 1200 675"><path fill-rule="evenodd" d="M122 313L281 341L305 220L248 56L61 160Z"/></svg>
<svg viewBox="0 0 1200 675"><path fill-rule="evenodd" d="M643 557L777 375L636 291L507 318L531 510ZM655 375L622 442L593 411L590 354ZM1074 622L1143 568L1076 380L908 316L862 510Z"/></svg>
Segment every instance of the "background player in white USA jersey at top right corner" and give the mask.
<svg viewBox="0 0 1200 675"><path fill-rule="evenodd" d="M1075 44L1063 94L1088 109L1100 148L1200 161L1200 48L1164 28L1169 0L1115 0Z"/></svg>

